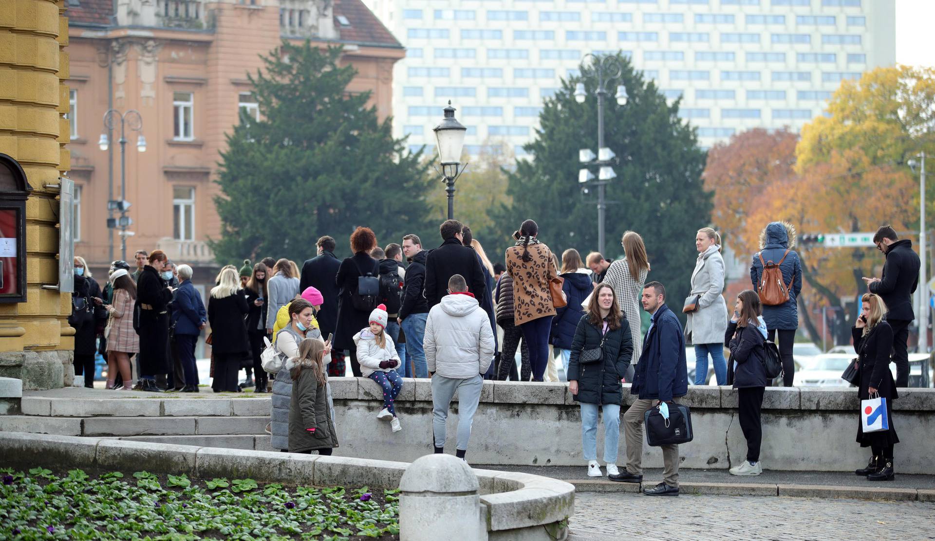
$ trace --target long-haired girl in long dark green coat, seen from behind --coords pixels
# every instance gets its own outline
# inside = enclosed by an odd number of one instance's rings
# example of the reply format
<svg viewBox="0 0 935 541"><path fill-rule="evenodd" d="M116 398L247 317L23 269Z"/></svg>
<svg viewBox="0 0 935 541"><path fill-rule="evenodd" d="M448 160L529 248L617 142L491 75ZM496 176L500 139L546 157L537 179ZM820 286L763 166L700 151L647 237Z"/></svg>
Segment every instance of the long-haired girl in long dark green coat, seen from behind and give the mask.
<svg viewBox="0 0 935 541"><path fill-rule="evenodd" d="M320 455L330 455L331 449L338 447L338 433L328 407L325 349L318 338L305 338L299 343L298 357L289 360L293 379L289 452L317 450Z"/></svg>

